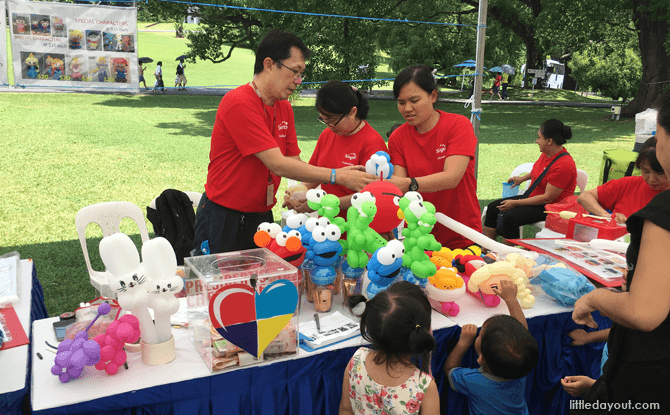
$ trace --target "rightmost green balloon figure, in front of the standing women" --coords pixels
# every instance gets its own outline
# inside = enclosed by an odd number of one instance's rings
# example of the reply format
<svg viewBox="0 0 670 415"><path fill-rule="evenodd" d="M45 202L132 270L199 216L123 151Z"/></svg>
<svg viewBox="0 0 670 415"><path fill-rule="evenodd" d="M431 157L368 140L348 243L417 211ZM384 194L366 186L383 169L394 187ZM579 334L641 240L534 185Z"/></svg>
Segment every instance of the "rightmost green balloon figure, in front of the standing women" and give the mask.
<svg viewBox="0 0 670 415"><path fill-rule="evenodd" d="M435 226L435 206L424 202L418 192L407 192L400 199L399 216L402 215L407 223L403 229L405 236L405 255L403 265L412 270L418 278L428 278L435 275L437 267L430 262L424 251L439 251L442 245L431 235Z"/></svg>

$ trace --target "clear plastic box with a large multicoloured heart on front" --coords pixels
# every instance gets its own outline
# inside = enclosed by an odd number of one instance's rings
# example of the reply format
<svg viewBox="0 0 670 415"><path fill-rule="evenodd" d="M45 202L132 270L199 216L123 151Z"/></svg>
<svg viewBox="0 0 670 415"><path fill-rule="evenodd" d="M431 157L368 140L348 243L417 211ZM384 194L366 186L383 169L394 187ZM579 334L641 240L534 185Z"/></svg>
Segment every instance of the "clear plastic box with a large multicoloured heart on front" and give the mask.
<svg viewBox="0 0 670 415"><path fill-rule="evenodd" d="M299 278L296 267L265 248L185 258L184 264L188 267L186 302L189 337L198 354L212 372L253 365L264 360L281 359L298 353L300 291L298 290L295 310L288 314L285 313L286 310L281 310L282 307L286 308L286 304L277 304L277 295L271 296L272 291L278 287L277 284L284 284L284 286L294 284L298 289ZM247 313L247 317L249 315L253 317L245 318L243 313L239 312L239 322L225 322L226 330L219 328L217 331L216 326L222 326L223 320L229 320L226 318L229 314L225 314L227 310L225 301L229 300L228 297L222 295L222 290L232 284L240 288L236 293L229 295L245 293L245 291L251 294L249 297L242 296L242 299L235 298L234 308L237 310L251 307L253 314ZM273 284L273 289L264 291L265 287L270 284ZM264 297L266 295L268 297ZM247 303L245 298L248 298L248 301L253 304ZM262 303L264 299L267 302ZM273 301L269 301L270 299ZM211 310L210 302L213 302ZM292 304L289 304L289 307L292 307ZM259 317L255 320L256 313L261 312L259 310L267 314L268 309L272 312L276 311L277 315L272 314L269 318ZM216 323L212 324L212 321ZM277 321L280 322L279 326ZM283 328L277 328L281 327L284 321L287 323ZM232 337L227 334L242 325L254 325L258 333L255 339L250 336L238 337L240 338L239 345L246 351L231 341ZM268 330L268 327L271 330ZM270 337L275 330L278 334ZM227 338L223 337L221 331L227 332ZM270 338L272 340L269 340ZM262 353L258 353L258 350L263 348Z"/></svg>

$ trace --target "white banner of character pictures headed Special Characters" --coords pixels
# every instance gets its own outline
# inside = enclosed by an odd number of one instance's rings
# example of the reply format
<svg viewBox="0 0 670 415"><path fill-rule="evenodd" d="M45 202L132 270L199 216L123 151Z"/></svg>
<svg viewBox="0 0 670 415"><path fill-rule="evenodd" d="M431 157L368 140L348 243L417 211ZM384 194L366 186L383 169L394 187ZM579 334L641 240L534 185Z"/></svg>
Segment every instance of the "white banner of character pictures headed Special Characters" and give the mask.
<svg viewBox="0 0 670 415"><path fill-rule="evenodd" d="M8 0L14 83L138 88L137 9Z"/></svg>

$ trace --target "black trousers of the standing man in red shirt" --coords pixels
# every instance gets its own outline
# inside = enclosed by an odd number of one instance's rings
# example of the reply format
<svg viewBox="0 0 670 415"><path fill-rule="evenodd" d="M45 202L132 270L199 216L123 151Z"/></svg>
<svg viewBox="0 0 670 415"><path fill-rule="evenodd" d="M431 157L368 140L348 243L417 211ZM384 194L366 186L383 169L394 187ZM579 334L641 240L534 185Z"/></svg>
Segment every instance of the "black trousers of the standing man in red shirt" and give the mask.
<svg viewBox="0 0 670 415"><path fill-rule="evenodd" d="M204 242L207 242L210 254L258 248L254 235L263 222L274 222L271 210L240 212L212 202L203 193L195 214L195 255L206 254L203 252Z"/></svg>

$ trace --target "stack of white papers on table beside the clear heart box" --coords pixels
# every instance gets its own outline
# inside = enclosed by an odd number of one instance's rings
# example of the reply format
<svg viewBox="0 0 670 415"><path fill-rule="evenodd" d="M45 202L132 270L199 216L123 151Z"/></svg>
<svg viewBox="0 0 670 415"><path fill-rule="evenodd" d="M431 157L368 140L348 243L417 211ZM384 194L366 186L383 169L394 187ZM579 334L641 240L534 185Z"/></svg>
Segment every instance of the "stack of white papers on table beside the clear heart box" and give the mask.
<svg viewBox="0 0 670 415"><path fill-rule="evenodd" d="M327 316L320 316L319 323L321 331L316 329L314 320L300 323L300 334L306 337L302 341L312 349L325 347L360 333L358 323L342 315L339 311Z"/></svg>

